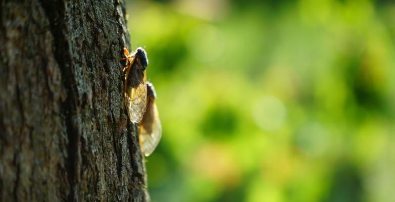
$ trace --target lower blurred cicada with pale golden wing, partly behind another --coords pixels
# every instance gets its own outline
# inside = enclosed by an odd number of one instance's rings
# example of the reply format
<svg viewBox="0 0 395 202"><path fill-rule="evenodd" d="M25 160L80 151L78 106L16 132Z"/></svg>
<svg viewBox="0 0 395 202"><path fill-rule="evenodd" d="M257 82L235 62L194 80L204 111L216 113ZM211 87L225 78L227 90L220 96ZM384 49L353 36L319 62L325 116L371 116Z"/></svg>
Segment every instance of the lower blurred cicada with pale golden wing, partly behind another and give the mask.
<svg viewBox="0 0 395 202"><path fill-rule="evenodd" d="M151 155L162 137L162 125L158 108L155 103L156 92L154 85L146 82L147 97L146 111L139 123L139 143L142 154Z"/></svg>

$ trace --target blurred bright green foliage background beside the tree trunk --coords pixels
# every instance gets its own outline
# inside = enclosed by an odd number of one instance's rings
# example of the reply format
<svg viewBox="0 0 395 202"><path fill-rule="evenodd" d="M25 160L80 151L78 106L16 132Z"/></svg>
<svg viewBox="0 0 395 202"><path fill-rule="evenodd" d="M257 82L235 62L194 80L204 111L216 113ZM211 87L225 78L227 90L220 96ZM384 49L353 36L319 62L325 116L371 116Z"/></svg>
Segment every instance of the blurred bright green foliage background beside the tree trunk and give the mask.
<svg viewBox="0 0 395 202"><path fill-rule="evenodd" d="M395 4L132 1L153 201L393 201Z"/></svg>

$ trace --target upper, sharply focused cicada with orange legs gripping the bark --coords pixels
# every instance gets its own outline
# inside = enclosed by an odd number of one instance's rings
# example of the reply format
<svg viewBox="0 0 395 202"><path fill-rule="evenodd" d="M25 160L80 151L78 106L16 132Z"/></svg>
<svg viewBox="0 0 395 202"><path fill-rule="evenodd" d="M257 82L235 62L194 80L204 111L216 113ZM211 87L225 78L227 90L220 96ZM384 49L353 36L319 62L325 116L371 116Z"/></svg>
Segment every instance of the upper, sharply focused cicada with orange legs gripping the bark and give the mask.
<svg viewBox="0 0 395 202"><path fill-rule="evenodd" d="M125 73L125 105L128 109L130 121L138 123L141 121L147 105L145 69L148 65L148 59L141 47L138 47L132 54L129 54L126 48L123 48L123 51L126 56L124 59L127 62L122 70Z"/></svg>

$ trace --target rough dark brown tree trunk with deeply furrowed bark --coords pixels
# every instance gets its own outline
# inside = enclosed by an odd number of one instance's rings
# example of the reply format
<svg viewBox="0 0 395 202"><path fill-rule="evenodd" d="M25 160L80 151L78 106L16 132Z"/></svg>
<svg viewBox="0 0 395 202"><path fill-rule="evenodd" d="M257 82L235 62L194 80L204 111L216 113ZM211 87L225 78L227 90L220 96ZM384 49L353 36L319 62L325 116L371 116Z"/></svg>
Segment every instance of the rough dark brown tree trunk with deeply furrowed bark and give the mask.
<svg viewBox="0 0 395 202"><path fill-rule="evenodd" d="M0 199L145 201L123 2L2 1Z"/></svg>

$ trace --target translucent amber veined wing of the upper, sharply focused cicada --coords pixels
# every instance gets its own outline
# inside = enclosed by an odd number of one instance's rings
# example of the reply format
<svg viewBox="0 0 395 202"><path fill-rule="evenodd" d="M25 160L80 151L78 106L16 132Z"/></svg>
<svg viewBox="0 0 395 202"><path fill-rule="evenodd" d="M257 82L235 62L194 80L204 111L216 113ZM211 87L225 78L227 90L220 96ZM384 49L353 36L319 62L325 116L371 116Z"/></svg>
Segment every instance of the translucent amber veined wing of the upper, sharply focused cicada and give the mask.
<svg viewBox="0 0 395 202"><path fill-rule="evenodd" d="M125 105L128 109L129 119L133 123L138 123L146 109L146 75L145 70L140 71L139 64L134 61L127 70L125 81Z"/></svg>

